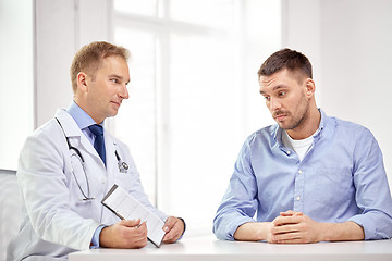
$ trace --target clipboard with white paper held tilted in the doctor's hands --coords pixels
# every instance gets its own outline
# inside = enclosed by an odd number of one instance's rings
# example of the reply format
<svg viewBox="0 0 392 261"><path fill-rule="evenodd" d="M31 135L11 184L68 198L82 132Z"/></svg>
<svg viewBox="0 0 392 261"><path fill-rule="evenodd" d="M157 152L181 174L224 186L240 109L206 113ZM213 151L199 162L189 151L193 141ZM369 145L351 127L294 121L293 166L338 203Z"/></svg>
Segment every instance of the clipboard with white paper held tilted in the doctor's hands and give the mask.
<svg viewBox="0 0 392 261"><path fill-rule="evenodd" d="M101 203L121 220L140 219L142 222L146 221L148 240L156 247L161 245L166 234L162 229L164 222L157 214L150 212L125 189L114 184L103 197Z"/></svg>

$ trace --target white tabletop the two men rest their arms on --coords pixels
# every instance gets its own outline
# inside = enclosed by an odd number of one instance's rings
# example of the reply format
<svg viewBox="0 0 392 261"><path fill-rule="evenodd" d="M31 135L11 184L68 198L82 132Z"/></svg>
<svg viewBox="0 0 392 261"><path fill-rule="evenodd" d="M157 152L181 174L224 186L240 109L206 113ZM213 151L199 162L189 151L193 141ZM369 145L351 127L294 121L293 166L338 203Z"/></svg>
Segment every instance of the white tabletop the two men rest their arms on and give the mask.
<svg viewBox="0 0 392 261"><path fill-rule="evenodd" d="M70 261L392 261L392 240L274 245L222 241L213 236L184 237L180 243L143 249L90 249Z"/></svg>

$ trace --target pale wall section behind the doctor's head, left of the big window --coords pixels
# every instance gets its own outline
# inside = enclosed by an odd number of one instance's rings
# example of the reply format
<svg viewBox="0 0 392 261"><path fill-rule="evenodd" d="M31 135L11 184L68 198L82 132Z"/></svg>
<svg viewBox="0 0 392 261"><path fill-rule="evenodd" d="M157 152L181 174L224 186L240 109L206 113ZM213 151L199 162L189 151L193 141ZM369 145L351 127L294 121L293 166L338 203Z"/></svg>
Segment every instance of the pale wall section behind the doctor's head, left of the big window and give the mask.
<svg viewBox="0 0 392 261"><path fill-rule="evenodd" d="M71 102L70 66L75 52L93 40L108 40L109 2L35 0L35 127Z"/></svg>

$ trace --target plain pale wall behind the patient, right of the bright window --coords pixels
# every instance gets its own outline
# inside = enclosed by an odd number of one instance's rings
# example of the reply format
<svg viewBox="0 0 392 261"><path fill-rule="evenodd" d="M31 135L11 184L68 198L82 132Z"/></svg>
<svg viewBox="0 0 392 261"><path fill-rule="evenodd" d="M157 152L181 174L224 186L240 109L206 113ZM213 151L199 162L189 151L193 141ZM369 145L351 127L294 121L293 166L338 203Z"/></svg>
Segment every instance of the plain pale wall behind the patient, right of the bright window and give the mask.
<svg viewBox="0 0 392 261"><path fill-rule="evenodd" d="M284 0L283 45L308 54L319 105L368 127L392 187L392 1Z"/></svg>

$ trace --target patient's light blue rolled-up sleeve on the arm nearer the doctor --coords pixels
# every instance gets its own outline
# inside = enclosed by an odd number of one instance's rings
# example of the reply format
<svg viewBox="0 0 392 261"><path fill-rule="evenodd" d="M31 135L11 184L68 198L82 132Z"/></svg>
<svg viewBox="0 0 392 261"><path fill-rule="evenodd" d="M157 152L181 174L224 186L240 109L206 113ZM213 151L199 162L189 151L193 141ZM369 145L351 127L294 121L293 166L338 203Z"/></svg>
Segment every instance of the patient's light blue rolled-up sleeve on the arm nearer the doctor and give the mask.
<svg viewBox="0 0 392 261"><path fill-rule="evenodd" d="M234 233L244 223L255 222L257 184L252 170L249 146L244 144L235 162L234 173L213 220L219 239L234 240Z"/></svg>

